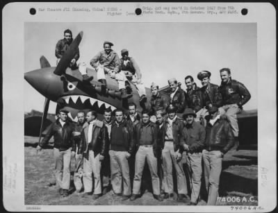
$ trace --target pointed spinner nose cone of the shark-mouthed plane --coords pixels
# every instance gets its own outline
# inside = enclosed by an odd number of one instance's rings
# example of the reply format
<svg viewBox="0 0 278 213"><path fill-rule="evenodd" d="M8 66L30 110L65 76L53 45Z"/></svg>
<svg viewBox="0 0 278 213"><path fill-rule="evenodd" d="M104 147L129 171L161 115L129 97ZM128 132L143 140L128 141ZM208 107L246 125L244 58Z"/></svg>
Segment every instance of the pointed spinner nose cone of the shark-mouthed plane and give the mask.
<svg viewBox="0 0 278 213"><path fill-rule="evenodd" d="M54 67L46 67L24 74L25 80L35 90L52 101L58 99L58 91L60 90L60 76L53 73L54 69Z"/></svg>

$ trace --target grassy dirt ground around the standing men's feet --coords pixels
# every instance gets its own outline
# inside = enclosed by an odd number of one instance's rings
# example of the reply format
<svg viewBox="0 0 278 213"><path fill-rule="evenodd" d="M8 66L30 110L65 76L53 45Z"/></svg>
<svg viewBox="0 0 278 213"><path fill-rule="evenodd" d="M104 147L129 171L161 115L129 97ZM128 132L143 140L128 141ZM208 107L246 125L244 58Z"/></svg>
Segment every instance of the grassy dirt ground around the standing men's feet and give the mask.
<svg viewBox="0 0 278 213"><path fill-rule="evenodd" d="M38 137L25 137L25 205L187 205L175 197L156 201L152 193L145 193L136 201L121 201L109 191L97 201L82 198L71 181L70 196L58 195L58 188L49 183L54 178L54 158L51 146L36 153ZM257 151L231 150L224 155L217 205L258 205ZM72 162L71 171L74 171ZM198 205L206 205L204 190ZM204 196L203 196L204 195Z"/></svg>

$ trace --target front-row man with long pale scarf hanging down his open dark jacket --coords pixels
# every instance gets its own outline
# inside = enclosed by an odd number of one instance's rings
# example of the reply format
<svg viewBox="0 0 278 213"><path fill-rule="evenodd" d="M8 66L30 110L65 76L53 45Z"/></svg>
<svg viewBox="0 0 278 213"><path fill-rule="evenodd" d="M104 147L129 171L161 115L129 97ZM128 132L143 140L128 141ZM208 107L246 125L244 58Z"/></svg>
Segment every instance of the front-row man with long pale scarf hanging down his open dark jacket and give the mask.
<svg viewBox="0 0 278 213"><path fill-rule="evenodd" d="M108 133L104 122L97 119L97 112L89 111L86 119L88 125L82 130L78 153L83 154L84 196L92 194L92 182L94 182L92 199L96 200L101 196L101 161L104 160L108 149Z"/></svg>

